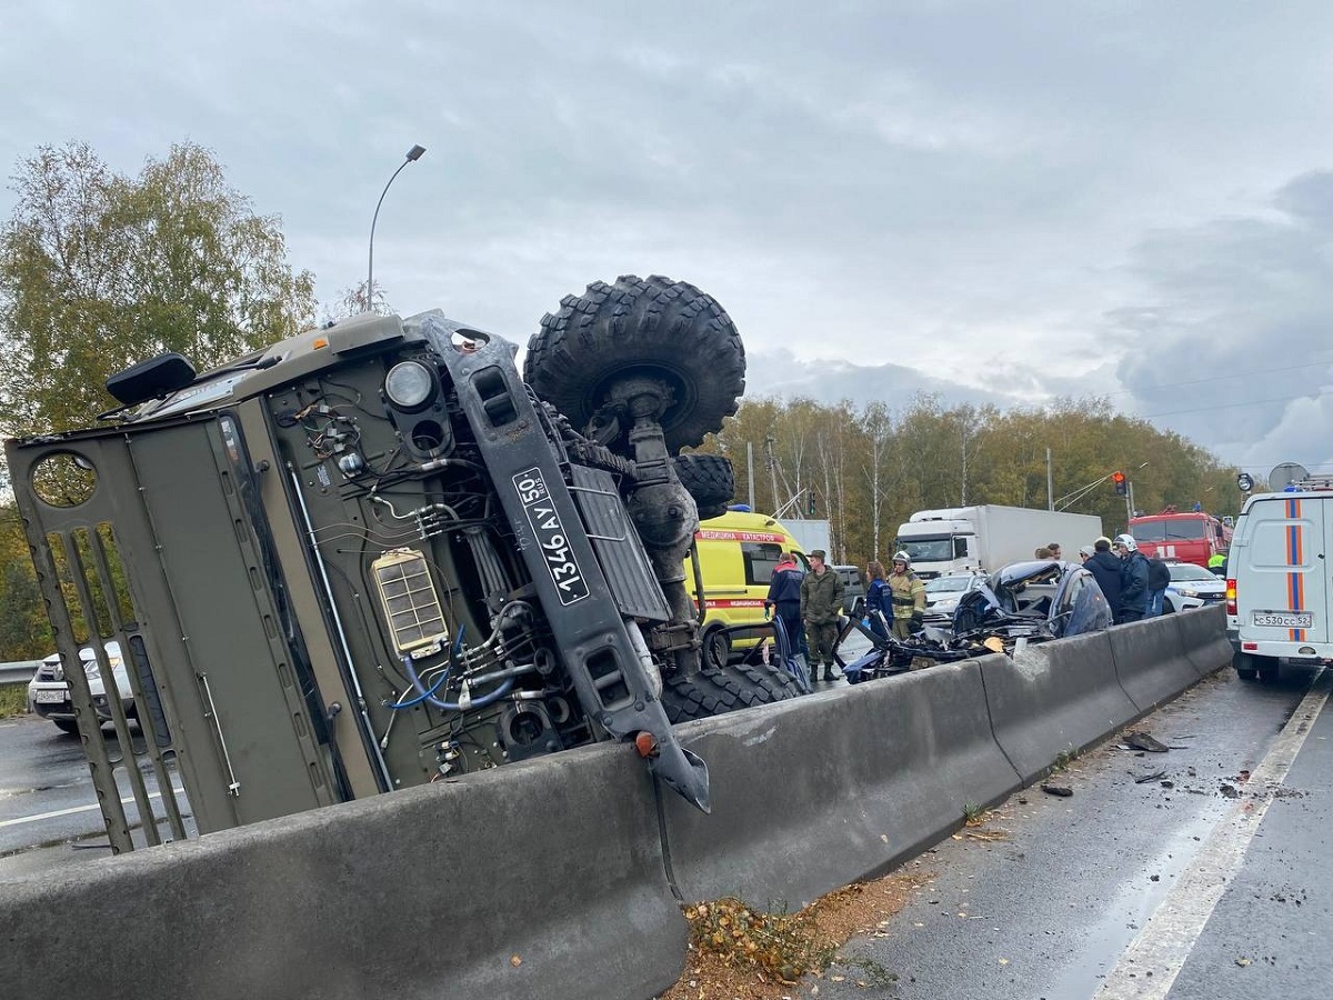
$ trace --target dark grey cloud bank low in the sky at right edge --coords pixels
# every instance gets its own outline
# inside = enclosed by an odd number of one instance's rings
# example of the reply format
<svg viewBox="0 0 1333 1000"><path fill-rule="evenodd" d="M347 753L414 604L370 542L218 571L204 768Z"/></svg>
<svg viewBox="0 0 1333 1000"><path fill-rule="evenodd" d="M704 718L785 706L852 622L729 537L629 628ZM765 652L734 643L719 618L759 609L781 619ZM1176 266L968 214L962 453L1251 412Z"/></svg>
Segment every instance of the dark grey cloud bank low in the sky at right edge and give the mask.
<svg viewBox="0 0 1333 1000"><path fill-rule="evenodd" d="M1333 461L1322 419L1333 379L1333 172L1294 177L1272 207L1154 233L1132 267L1153 304L1108 317L1138 412L1261 473L1281 460Z"/></svg>

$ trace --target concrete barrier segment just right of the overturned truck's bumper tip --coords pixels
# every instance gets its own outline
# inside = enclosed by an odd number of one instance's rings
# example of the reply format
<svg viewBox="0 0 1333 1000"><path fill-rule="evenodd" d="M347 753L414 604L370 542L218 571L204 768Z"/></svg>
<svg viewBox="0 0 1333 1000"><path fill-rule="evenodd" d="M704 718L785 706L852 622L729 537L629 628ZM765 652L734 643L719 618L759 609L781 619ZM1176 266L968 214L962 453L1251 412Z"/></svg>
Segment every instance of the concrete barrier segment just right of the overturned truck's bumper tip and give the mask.
<svg viewBox="0 0 1333 1000"><path fill-rule="evenodd" d="M990 735L976 660L677 727L708 761L710 816L663 801L686 901L797 911L886 872L1018 775ZM690 815L690 813L696 815Z"/></svg>

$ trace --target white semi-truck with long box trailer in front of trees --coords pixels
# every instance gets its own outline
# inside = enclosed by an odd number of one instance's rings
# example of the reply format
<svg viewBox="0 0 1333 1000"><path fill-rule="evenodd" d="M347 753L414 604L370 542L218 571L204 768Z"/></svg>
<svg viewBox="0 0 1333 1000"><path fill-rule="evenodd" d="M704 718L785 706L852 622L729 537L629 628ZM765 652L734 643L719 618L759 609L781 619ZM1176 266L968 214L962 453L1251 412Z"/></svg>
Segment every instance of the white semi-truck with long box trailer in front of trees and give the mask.
<svg viewBox="0 0 1333 1000"><path fill-rule="evenodd" d="M1030 560L1036 549L1058 541L1064 559L1100 535L1101 517L1033 511L1026 507L949 507L917 511L898 527L896 551L906 552L924 580L945 573L986 572Z"/></svg>

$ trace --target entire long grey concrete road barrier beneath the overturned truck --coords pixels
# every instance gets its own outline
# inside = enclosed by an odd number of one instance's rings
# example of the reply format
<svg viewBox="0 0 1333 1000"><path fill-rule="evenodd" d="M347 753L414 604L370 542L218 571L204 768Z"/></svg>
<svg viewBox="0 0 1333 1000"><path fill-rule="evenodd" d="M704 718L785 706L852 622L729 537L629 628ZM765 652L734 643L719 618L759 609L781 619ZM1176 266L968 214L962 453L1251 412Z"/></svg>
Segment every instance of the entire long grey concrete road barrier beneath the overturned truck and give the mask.
<svg viewBox="0 0 1333 1000"><path fill-rule="evenodd" d="M21 877L5 977L25 1000L655 996L685 967L680 901L794 911L880 875L1230 657L1213 607L685 723L712 816L600 744Z"/></svg>

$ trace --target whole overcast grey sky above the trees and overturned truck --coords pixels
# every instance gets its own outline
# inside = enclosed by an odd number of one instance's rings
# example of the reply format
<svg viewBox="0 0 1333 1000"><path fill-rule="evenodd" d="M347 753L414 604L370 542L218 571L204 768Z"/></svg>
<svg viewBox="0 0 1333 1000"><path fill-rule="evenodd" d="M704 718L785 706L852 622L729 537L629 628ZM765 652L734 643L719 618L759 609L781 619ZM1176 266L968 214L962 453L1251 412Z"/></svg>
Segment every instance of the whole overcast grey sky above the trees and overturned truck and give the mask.
<svg viewBox="0 0 1333 1000"><path fill-rule="evenodd" d="M595 279L750 393L1106 395L1333 472L1333 4L0 0L0 155L212 149L332 303L525 343ZM0 213L13 195L0 195Z"/></svg>

